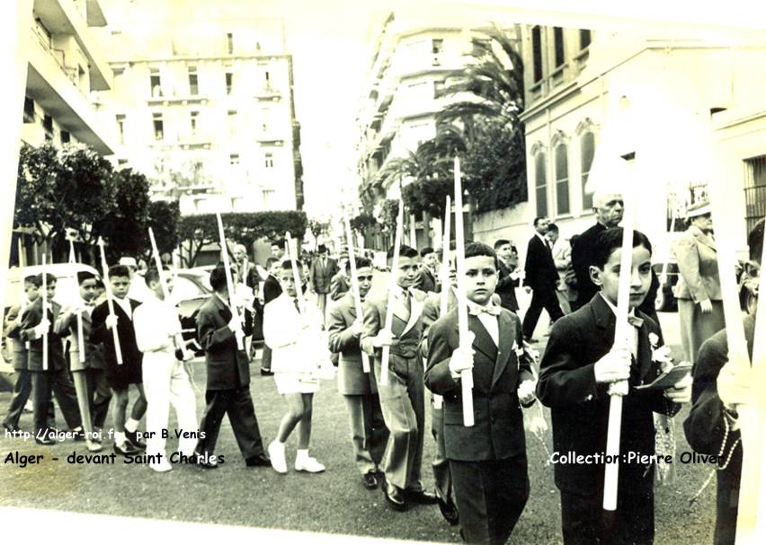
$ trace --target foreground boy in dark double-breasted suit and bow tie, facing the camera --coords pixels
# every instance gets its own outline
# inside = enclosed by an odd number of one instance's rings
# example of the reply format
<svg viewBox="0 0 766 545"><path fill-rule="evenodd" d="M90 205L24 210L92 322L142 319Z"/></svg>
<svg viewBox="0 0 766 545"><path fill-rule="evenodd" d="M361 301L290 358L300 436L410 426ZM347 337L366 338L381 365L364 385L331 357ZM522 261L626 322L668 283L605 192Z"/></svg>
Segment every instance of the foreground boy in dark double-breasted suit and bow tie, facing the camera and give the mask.
<svg viewBox="0 0 766 545"><path fill-rule="evenodd" d="M530 360L521 352L521 323L492 303L496 256L466 245L468 338L459 338L458 309L432 325L425 384L444 399L444 446L468 543L504 543L530 494L520 402L534 401ZM522 354L521 360L517 354ZM474 377L474 426L463 426L460 373Z"/></svg>

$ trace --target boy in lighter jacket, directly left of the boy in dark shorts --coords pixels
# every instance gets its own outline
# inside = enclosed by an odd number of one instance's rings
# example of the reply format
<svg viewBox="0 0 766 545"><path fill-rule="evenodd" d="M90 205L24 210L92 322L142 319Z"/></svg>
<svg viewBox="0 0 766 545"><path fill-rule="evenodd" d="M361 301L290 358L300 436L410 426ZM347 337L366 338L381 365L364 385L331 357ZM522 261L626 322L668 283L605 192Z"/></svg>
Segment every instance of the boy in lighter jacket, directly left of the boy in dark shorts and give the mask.
<svg viewBox="0 0 766 545"><path fill-rule="evenodd" d="M93 312L96 295L96 277L88 271L77 272L80 300L62 310L58 320L53 324L53 330L62 337L69 336L69 369L75 377L77 400L80 402L80 414L83 418L88 450L95 448L91 442L102 442L102 428L106 421L106 413L111 401L111 390L104 376L103 352L101 345L90 342ZM80 338L80 326L77 315L80 315L83 338ZM80 353L80 345L85 353ZM82 377L82 378L78 378Z"/></svg>

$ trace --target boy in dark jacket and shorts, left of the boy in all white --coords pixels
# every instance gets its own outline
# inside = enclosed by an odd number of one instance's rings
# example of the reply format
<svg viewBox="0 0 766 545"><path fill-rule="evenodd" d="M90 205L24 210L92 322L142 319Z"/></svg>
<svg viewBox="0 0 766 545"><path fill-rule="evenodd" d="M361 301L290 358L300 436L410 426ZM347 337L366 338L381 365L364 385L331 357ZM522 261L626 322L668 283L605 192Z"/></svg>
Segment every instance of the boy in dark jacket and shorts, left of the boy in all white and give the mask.
<svg viewBox="0 0 766 545"><path fill-rule="evenodd" d="M133 329L133 311L140 303L129 299L130 269L125 265L112 265L109 268L109 283L114 301L114 314L109 313L109 302L103 301L91 314L90 341L103 345L106 382L114 392L114 452L123 456L136 454L147 448L146 442L138 436L138 422L147 412L147 398L144 395L141 360L143 355L136 345L136 331ZM114 336L111 332L117 328L120 339L122 364L117 362ZM128 414L128 390L135 384L138 399Z"/></svg>

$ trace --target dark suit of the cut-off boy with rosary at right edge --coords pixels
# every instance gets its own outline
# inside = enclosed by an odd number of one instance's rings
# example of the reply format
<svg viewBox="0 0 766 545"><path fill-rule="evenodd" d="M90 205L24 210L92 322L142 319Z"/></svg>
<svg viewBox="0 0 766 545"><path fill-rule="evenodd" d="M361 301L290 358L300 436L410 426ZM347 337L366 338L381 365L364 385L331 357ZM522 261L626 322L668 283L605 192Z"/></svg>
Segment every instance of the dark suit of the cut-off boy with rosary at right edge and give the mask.
<svg viewBox="0 0 766 545"><path fill-rule="evenodd" d="M744 337L747 339L747 349L751 358L753 357L754 330L754 317L746 316ZM724 404L718 397L717 378L727 361L726 330L720 330L699 348L697 362L694 365L694 383L691 388L691 410L683 422L683 431L692 449L698 453L714 456L723 453L724 459L718 462L719 466L724 465L732 447L735 447L726 470L716 471L715 543L734 543L735 541L736 506L739 504L740 477L742 476L742 444L736 444L741 436L740 431L730 431L724 444L726 417Z"/></svg>

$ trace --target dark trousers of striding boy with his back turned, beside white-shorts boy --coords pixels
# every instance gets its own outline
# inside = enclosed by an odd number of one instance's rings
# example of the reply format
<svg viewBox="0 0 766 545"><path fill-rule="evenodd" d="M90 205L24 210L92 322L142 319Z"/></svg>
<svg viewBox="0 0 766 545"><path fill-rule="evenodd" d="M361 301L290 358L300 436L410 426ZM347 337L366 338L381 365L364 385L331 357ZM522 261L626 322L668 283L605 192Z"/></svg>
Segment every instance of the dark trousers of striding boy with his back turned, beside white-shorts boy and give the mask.
<svg viewBox="0 0 766 545"><path fill-rule="evenodd" d="M205 436L197 443L197 453L214 453L224 415L228 416L236 444L239 445L239 451L245 460L263 453L261 430L258 429L253 398L247 386L232 390L205 391L205 403L200 422L200 432Z"/></svg>

